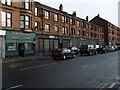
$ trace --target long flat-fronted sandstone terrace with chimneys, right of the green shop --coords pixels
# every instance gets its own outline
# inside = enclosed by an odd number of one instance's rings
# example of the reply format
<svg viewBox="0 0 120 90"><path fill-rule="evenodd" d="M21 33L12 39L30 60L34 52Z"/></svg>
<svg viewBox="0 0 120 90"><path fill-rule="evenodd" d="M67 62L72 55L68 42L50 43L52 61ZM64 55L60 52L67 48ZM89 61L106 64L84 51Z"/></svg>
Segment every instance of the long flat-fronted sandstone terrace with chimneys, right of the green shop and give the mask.
<svg viewBox="0 0 120 90"><path fill-rule="evenodd" d="M79 47L81 44L103 45L103 28L69 14L60 4L55 9L35 2L34 19L36 32L36 53L48 53L55 48Z"/></svg>

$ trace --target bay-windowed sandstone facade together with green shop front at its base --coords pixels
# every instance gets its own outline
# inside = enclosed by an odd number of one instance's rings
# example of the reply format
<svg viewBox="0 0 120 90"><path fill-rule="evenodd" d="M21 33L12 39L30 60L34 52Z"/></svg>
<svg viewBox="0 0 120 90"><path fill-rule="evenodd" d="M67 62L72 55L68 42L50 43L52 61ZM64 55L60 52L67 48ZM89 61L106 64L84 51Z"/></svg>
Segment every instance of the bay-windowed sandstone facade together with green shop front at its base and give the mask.
<svg viewBox="0 0 120 90"><path fill-rule="evenodd" d="M1 24L5 31L5 57L18 57L34 54L35 33L32 28L34 2L1 0Z"/></svg>

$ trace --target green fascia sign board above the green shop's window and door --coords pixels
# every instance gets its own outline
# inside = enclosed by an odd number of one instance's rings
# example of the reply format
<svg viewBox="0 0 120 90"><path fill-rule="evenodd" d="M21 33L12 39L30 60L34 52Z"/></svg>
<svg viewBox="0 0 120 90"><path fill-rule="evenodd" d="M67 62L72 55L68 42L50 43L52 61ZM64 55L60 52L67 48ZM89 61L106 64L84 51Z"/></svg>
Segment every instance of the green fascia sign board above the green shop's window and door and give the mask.
<svg viewBox="0 0 120 90"><path fill-rule="evenodd" d="M35 33L23 33L20 31L7 31L6 39L7 40L34 40Z"/></svg>

